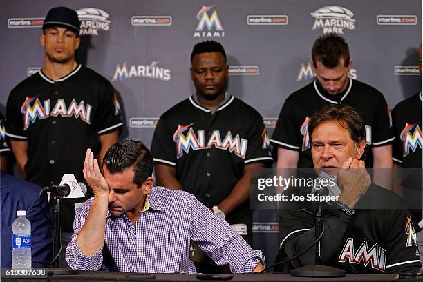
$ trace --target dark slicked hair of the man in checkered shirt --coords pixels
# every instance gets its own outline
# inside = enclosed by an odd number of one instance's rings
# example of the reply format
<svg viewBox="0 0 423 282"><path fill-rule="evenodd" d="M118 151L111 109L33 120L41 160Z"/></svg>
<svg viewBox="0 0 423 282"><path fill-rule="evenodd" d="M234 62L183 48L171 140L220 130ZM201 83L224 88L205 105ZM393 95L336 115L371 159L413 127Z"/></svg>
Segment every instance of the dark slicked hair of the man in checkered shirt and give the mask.
<svg viewBox="0 0 423 282"><path fill-rule="evenodd" d="M138 187L153 174L153 156L141 141L124 140L111 145L102 165L106 165L111 174L133 166L133 183Z"/></svg>

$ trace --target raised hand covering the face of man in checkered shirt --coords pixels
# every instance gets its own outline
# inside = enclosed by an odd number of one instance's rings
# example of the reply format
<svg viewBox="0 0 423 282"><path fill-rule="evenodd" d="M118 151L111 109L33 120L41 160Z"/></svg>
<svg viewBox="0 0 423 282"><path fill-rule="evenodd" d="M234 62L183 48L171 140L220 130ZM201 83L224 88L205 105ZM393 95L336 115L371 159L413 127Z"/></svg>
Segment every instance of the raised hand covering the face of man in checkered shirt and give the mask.
<svg viewBox="0 0 423 282"><path fill-rule="evenodd" d="M82 172L84 172L86 182L93 189L94 197L109 197L109 185L107 185L106 179L104 179L100 172L98 161L94 159L94 154L91 152L91 149L86 150L84 169Z"/></svg>

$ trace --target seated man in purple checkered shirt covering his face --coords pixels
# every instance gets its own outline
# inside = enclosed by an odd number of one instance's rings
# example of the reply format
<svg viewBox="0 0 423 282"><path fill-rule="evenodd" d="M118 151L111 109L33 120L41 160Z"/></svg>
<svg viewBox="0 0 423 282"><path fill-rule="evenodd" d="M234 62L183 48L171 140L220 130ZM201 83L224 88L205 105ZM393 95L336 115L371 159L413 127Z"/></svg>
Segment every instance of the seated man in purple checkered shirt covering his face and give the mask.
<svg viewBox="0 0 423 282"><path fill-rule="evenodd" d="M120 141L106 152L102 173L87 150L84 177L94 197L78 208L66 261L78 270L194 273L190 240L232 272L263 269L223 219L182 191L153 187L153 157L140 141Z"/></svg>

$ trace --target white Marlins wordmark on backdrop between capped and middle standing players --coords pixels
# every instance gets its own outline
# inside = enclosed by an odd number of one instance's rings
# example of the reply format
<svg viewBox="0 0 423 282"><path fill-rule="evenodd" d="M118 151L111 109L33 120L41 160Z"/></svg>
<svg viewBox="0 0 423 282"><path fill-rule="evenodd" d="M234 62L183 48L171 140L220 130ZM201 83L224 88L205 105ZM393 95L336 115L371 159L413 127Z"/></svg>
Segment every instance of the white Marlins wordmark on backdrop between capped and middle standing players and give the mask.
<svg viewBox="0 0 423 282"><path fill-rule="evenodd" d="M120 65L116 66L112 81L117 81L118 79L131 79L133 77L146 77L149 79L160 79L162 81L171 80L171 70L168 68L160 68L157 65L158 61L153 61L149 66L126 66L126 63L123 63L122 67Z"/></svg>

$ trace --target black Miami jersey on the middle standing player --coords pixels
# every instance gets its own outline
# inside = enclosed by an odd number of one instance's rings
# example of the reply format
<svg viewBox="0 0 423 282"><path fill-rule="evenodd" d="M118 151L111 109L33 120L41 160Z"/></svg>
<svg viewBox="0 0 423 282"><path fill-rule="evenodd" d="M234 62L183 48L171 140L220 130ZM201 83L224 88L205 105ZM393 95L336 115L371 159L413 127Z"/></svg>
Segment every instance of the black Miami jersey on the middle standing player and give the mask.
<svg viewBox="0 0 423 282"><path fill-rule="evenodd" d="M209 208L229 196L245 165L272 161L261 115L235 97L214 113L194 97L178 103L160 117L151 153L155 163L175 167L184 190ZM248 201L227 221L251 221Z"/></svg>

